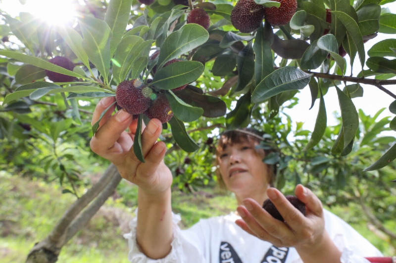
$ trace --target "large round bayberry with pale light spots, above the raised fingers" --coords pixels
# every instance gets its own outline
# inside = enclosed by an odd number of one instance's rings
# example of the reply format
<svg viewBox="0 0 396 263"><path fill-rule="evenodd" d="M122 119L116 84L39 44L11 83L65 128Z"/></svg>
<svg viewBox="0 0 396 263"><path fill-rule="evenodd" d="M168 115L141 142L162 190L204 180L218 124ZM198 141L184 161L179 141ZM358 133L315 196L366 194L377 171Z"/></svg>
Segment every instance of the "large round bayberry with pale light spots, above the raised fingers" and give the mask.
<svg viewBox="0 0 396 263"><path fill-rule="evenodd" d="M140 79L124 80L117 86L115 98L119 107L127 113L136 115L150 107L152 90Z"/></svg>

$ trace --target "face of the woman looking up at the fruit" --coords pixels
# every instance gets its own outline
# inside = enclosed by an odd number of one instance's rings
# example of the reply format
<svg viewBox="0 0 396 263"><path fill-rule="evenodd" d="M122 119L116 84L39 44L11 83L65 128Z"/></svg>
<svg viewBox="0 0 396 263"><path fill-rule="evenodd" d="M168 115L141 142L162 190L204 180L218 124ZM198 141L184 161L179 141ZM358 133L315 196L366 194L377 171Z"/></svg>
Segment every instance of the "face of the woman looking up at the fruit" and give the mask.
<svg viewBox="0 0 396 263"><path fill-rule="evenodd" d="M236 194L265 191L268 188L267 165L254 149L254 142L227 144L217 155L220 174L226 187Z"/></svg>

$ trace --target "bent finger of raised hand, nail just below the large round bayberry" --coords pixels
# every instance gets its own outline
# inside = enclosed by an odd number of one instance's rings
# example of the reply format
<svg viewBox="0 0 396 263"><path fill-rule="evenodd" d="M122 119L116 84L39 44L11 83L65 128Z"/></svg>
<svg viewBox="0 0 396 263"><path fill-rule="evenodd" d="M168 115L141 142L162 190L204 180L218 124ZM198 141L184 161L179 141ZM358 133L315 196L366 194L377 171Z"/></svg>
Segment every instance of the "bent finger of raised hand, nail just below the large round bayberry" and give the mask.
<svg viewBox="0 0 396 263"><path fill-rule="evenodd" d="M106 121L91 139L91 149L100 156L107 158L121 133L132 121L131 114L118 111Z"/></svg>

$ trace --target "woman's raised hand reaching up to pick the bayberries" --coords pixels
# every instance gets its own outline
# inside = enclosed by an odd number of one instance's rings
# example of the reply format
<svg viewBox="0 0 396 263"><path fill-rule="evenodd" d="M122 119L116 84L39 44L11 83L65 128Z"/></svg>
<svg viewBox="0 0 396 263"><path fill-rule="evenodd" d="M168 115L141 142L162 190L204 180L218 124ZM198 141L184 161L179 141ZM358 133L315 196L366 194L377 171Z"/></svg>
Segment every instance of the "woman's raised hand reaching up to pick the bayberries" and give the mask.
<svg viewBox="0 0 396 263"><path fill-rule="evenodd" d="M100 114L114 102L114 97L100 100L92 117L92 125L99 120ZM163 162L166 146L157 142L162 124L151 119L147 127L142 127L142 151L145 163L139 161L133 150L133 139L137 128L137 119L124 111L114 115L112 106L99 122L99 129L91 139L91 149L99 156L111 161L122 178L138 185L148 194L162 193L172 184L172 173ZM129 132L125 130L129 128Z"/></svg>

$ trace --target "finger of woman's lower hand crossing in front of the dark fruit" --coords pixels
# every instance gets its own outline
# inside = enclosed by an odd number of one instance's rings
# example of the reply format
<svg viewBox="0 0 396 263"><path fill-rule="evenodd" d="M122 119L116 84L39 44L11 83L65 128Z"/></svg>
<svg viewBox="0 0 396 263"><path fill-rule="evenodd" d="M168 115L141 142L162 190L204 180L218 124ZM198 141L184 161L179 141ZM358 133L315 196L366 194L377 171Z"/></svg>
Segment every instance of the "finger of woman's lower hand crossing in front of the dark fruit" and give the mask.
<svg viewBox="0 0 396 263"><path fill-rule="evenodd" d="M268 188L267 195L292 229L306 224L304 215L278 189Z"/></svg>

